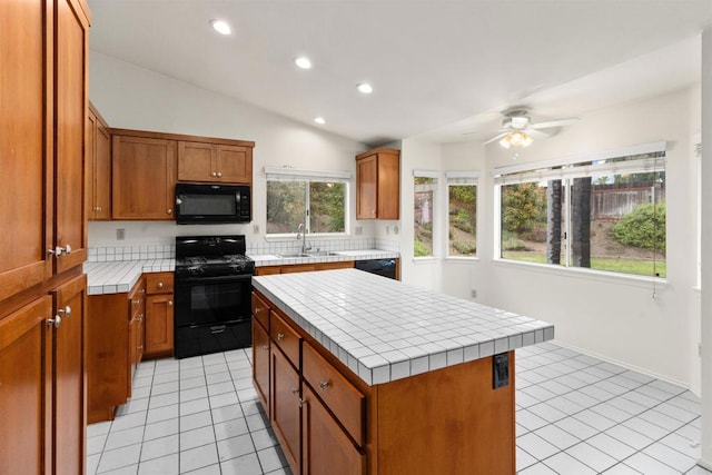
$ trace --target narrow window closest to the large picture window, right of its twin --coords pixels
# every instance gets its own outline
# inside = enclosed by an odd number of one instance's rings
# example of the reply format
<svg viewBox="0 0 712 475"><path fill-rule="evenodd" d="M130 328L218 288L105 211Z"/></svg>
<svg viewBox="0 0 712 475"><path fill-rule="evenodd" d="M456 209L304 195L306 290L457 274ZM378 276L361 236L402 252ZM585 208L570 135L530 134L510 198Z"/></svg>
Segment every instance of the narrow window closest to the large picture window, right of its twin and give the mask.
<svg viewBox="0 0 712 475"><path fill-rule="evenodd" d="M477 255L477 176L448 171L447 176L447 255Z"/></svg>

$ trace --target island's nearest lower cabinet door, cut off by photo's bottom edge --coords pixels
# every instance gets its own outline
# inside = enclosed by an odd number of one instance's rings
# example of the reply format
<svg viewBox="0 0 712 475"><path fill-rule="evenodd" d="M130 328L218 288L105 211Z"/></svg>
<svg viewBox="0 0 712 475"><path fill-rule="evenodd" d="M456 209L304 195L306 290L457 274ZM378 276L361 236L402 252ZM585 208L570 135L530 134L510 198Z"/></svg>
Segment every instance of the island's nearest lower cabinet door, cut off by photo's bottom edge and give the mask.
<svg viewBox="0 0 712 475"><path fill-rule="evenodd" d="M305 475L364 475L366 455L359 452L309 386L303 387L301 427Z"/></svg>

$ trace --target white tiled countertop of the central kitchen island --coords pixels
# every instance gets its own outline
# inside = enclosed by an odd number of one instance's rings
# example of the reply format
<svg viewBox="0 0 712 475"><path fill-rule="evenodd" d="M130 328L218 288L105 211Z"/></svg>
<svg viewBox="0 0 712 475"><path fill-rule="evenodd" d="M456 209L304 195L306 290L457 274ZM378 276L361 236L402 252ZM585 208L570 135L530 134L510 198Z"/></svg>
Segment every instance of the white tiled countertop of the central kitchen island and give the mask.
<svg viewBox="0 0 712 475"><path fill-rule="evenodd" d="M554 326L355 269L253 286L369 385L554 338Z"/></svg>

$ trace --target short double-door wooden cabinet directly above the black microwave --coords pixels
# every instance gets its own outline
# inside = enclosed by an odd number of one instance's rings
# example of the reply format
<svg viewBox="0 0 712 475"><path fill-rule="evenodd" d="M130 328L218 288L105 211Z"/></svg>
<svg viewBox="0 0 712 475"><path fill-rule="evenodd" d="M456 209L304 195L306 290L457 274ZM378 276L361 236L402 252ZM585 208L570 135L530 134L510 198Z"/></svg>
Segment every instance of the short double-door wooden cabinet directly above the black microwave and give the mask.
<svg viewBox="0 0 712 475"><path fill-rule="evenodd" d="M181 140L178 142L178 180L251 184L253 147L254 142L225 145Z"/></svg>

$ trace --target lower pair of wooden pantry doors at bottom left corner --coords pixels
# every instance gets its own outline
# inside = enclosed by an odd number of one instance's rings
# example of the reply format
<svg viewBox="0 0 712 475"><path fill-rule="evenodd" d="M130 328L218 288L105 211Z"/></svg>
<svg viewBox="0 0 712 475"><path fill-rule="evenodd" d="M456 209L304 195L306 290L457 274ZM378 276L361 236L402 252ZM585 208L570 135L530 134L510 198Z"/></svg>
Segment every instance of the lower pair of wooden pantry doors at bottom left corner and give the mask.
<svg viewBox="0 0 712 475"><path fill-rule="evenodd" d="M0 321L0 474L85 472L86 283Z"/></svg>

